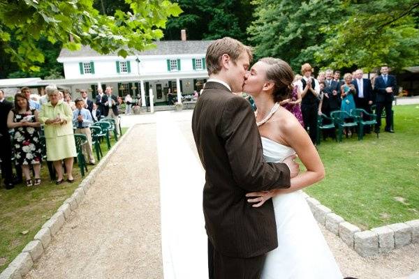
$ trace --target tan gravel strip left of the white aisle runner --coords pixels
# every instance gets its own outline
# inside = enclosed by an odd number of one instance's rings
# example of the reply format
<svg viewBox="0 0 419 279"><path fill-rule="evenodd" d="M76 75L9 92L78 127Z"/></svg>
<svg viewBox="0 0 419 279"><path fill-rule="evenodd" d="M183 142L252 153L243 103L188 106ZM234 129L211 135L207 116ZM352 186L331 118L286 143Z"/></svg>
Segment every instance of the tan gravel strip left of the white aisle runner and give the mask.
<svg viewBox="0 0 419 279"><path fill-rule="evenodd" d="M163 278L156 127L126 137L26 278Z"/></svg>

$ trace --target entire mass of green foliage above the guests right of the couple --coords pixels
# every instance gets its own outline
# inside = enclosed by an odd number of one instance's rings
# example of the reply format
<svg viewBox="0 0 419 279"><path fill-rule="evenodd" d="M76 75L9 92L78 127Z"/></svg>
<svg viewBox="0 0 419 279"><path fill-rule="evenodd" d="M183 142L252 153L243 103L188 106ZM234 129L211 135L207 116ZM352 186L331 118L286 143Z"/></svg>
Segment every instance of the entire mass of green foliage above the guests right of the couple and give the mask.
<svg viewBox="0 0 419 279"><path fill-rule="evenodd" d="M255 54L276 56L295 71L419 63L418 0L255 0L247 29Z"/></svg>

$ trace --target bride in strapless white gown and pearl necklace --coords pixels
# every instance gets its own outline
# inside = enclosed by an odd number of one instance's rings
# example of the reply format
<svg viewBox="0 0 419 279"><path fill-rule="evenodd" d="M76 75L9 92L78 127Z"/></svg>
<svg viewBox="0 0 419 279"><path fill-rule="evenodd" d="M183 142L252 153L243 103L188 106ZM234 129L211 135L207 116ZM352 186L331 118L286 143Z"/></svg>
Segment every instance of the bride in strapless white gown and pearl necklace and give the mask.
<svg viewBox="0 0 419 279"><path fill-rule="evenodd" d="M323 164L304 128L291 112L279 105L291 93L293 77L288 63L268 57L251 67L243 87L258 108L256 123L265 160L281 162L297 153L307 169L291 179L291 188L247 194L254 207L263 206L272 198L277 222L278 248L267 253L261 278L342 278L300 191L323 179Z"/></svg>

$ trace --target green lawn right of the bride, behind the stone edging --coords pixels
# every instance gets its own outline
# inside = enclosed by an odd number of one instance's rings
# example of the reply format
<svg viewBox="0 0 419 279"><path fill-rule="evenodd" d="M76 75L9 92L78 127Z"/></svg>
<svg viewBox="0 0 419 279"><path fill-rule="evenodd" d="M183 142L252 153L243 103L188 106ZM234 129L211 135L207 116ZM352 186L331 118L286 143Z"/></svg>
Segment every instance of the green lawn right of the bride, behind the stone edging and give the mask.
<svg viewBox="0 0 419 279"><path fill-rule="evenodd" d="M393 110L394 134L321 142L326 176L305 190L361 229L419 218L419 105Z"/></svg>

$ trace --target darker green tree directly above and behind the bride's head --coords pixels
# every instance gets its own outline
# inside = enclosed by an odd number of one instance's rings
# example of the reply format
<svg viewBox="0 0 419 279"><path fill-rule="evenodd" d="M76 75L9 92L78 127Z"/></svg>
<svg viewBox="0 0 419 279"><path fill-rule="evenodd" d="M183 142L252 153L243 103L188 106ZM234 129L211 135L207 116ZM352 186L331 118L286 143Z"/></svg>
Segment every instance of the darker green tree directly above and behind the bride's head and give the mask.
<svg viewBox="0 0 419 279"><path fill-rule="evenodd" d="M274 56L290 63L295 71L302 63L321 66L314 59L326 39L321 27L346 15L340 0L256 0L255 17L247 29L256 58Z"/></svg>

